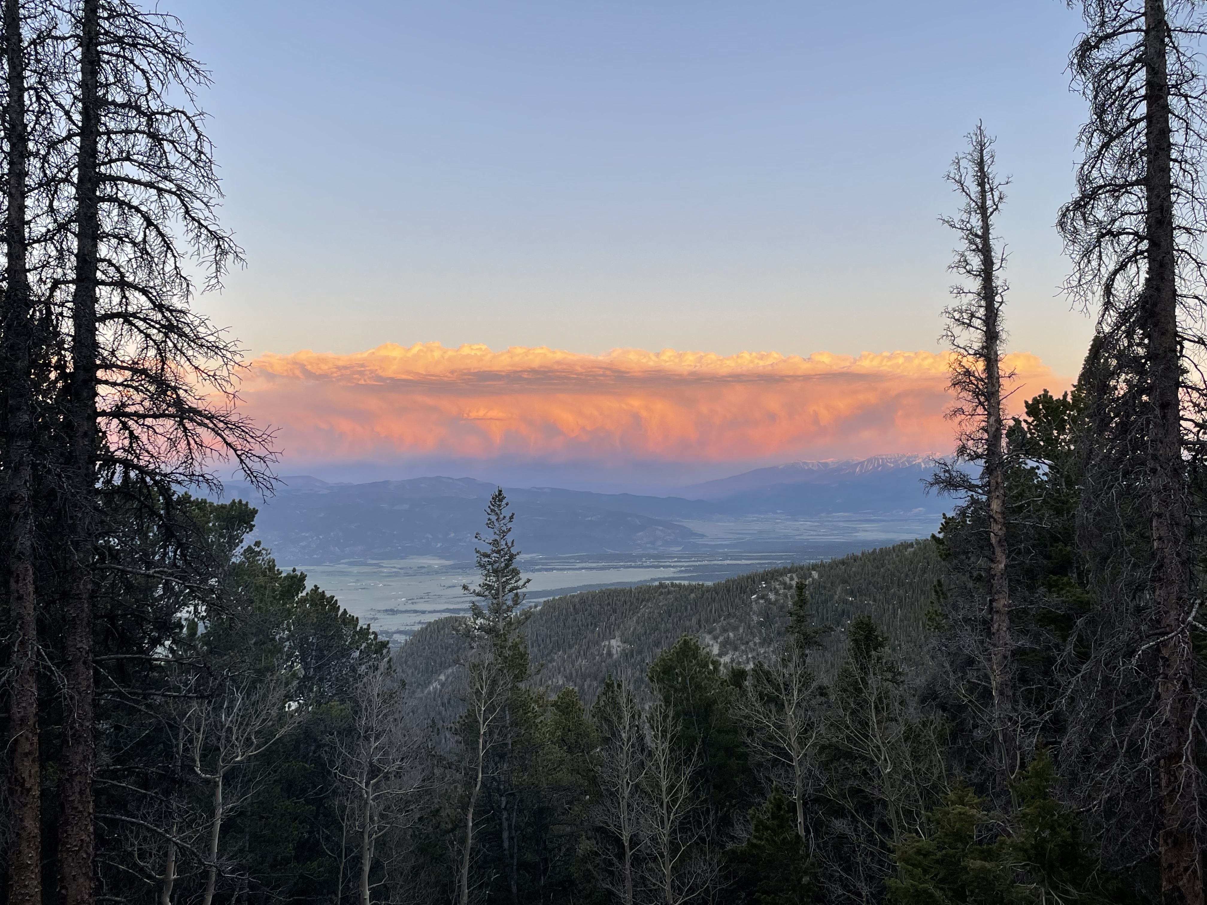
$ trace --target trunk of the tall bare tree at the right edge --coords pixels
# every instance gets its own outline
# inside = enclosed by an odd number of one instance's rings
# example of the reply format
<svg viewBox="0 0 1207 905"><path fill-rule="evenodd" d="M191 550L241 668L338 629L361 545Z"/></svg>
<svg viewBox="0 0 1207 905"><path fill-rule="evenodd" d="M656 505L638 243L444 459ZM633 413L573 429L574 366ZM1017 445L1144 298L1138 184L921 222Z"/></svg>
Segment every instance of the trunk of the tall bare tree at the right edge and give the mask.
<svg viewBox="0 0 1207 905"><path fill-rule="evenodd" d="M1180 349L1172 188L1172 133L1165 0L1144 2L1145 232L1148 272L1141 291L1141 326L1148 344L1147 449L1151 481L1154 602L1160 644L1161 891L1166 905L1202 905L1197 839L1197 771L1194 752L1193 650L1189 634L1190 570L1182 459Z"/></svg>

